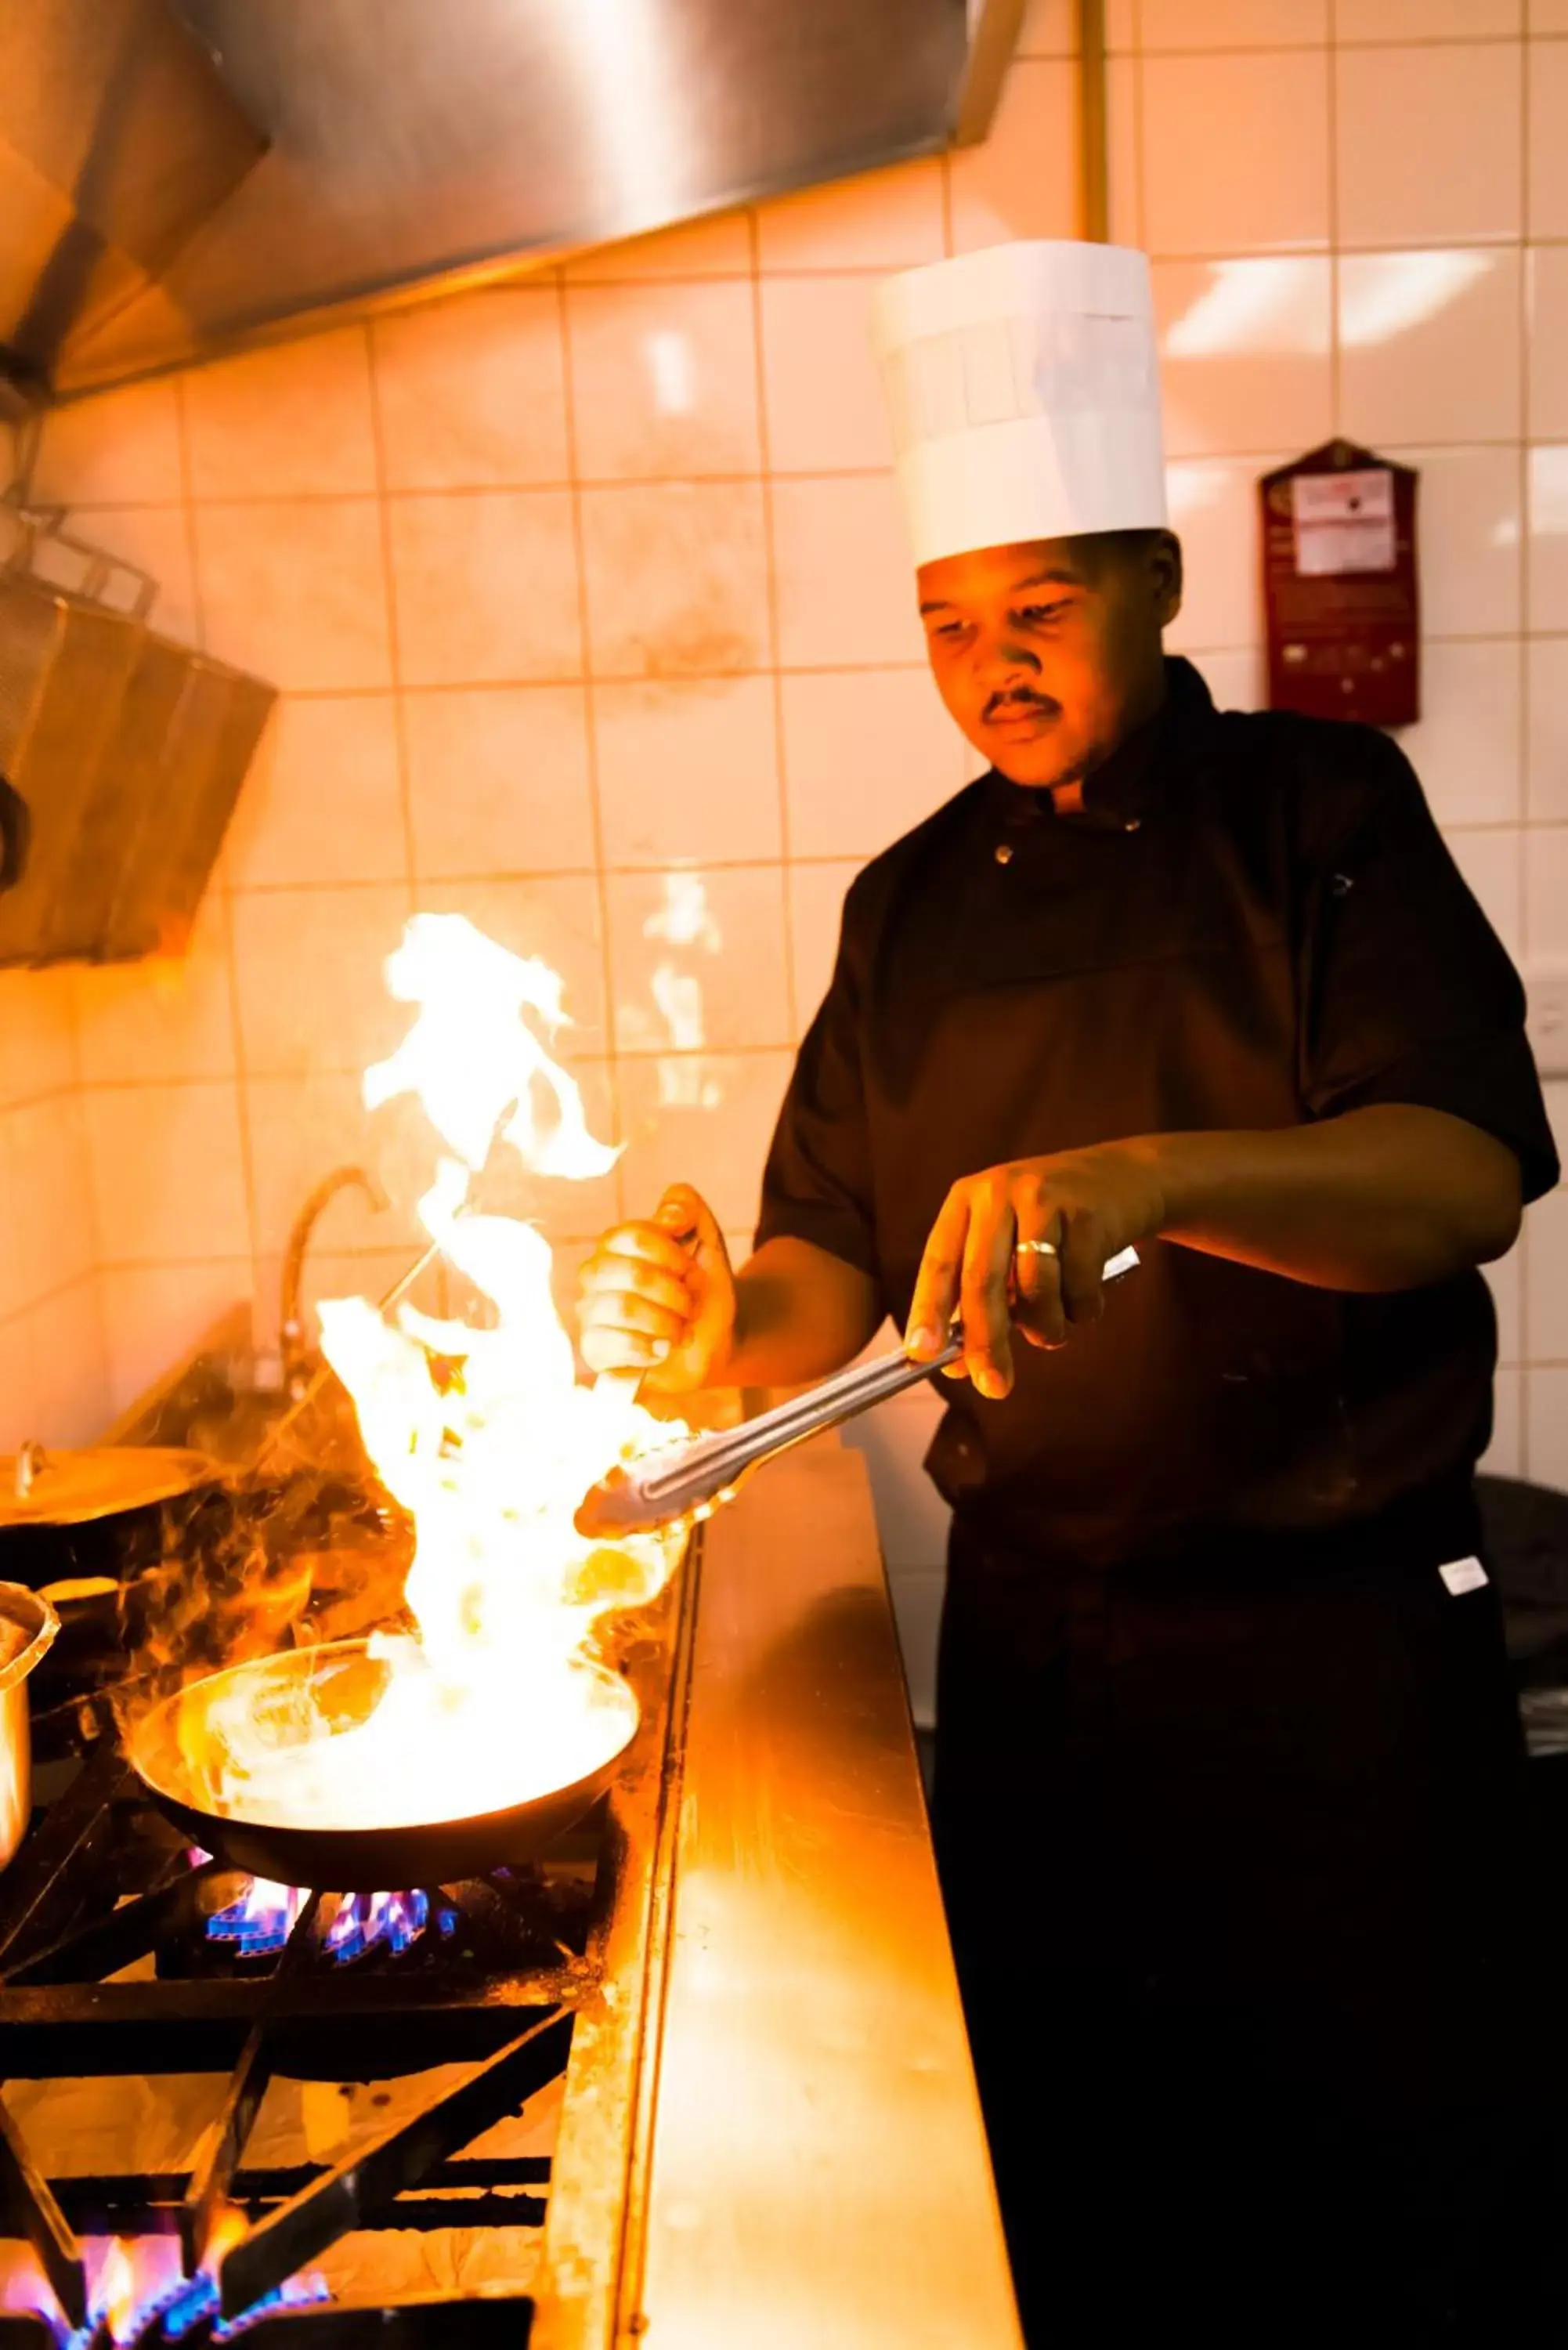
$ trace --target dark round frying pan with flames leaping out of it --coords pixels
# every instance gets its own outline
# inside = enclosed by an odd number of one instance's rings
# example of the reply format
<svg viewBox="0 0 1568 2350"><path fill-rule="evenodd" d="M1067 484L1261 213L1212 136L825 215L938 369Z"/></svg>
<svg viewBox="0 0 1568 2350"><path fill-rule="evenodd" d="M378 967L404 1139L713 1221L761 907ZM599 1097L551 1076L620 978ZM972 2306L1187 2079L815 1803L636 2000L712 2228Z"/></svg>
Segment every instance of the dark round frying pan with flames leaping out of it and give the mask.
<svg viewBox="0 0 1568 2350"><path fill-rule="evenodd" d="M320 1892L404 1892L484 1875L505 1861L529 1861L588 1812L614 1781L637 1732L625 1737L585 1779L548 1788L501 1812L470 1819L418 1821L386 1828L322 1828L214 1812L202 1758L221 1760L214 1704L235 1694L247 1704L287 1704L294 1692L341 1727L362 1723L376 1706L388 1666L367 1640L327 1640L282 1657L252 1657L223 1673L207 1673L162 1699L127 1741L132 1770L158 1807L205 1852L275 1885Z"/></svg>

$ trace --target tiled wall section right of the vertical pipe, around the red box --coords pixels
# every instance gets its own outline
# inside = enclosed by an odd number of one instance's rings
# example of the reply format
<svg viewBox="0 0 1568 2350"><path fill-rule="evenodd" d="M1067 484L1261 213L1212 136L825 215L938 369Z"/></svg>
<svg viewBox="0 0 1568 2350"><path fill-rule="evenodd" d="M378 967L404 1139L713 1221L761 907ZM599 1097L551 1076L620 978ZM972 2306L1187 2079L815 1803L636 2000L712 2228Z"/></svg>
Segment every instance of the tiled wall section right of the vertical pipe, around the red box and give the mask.
<svg viewBox="0 0 1568 2350"><path fill-rule="evenodd" d="M1199 573L1173 644L1258 698L1258 472L1331 430L1420 465L1406 750L1512 952L1568 959L1568 9L1133 0L1114 47L1117 233L1154 256ZM1495 1271L1490 1462L1568 1485L1561 1208Z"/></svg>

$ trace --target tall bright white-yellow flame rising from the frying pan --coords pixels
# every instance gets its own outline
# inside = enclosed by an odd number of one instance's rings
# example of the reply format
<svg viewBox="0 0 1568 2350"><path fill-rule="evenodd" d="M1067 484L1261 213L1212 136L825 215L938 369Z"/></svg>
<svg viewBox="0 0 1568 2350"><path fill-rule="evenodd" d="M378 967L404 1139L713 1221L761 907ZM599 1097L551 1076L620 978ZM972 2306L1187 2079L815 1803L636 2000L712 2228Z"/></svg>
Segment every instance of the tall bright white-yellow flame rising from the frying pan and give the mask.
<svg viewBox="0 0 1568 2350"><path fill-rule="evenodd" d="M418 1640L388 1638L386 1690L353 1727L212 1708L226 1746L216 1798L252 1819L393 1826L494 1812L588 1777L635 1725L625 1683L585 1650L597 1614L651 1598L679 1535L588 1544L571 1518L618 1459L668 1441L625 1379L578 1384L550 1295L541 1231L473 1203L503 1147L534 1175L602 1175L616 1152L588 1133L550 1039L562 985L458 914L418 914L388 961L418 1006L369 1107L416 1093L447 1152L421 1220L489 1304L484 1328L364 1297L322 1304L322 1351L355 1401L388 1490L414 1518L407 1603Z"/></svg>

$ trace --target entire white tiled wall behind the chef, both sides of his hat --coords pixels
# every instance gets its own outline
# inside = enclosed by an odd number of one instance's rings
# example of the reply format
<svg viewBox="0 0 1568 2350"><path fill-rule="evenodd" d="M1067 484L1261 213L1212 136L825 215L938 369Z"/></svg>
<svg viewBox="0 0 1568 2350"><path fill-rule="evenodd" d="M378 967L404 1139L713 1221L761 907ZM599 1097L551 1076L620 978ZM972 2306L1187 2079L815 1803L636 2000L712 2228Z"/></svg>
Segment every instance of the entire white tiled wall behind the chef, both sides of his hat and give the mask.
<svg viewBox="0 0 1568 2350"><path fill-rule="evenodd" d="M550 1203L562 1238L675 1173L745 1229L844 884L966 773L922 670L867 289L1074 230L1072 19L1034 0L997 134L952 164L52 423L42 489L160 573L174 630L284 689L190 961L82 978L75 1046L54 982L12 994L56 1053L0 1088L0 1154L21 1137L31 1159L40 1116L82 1137L63 1163L89 1170L113 1396L214 1304L270 1297L324 1168L369 1147L411 1163L411 1135L367 1133L353 1072L393 1034L378 961L416 905L567 973L571 1053L628 1152ZM1568 7L1530 0L1526 26L1523 0L1114 0L1107 19L1112 226L1154 254L1166 343L1175 644L1222 700L1255 700L1258 472L1331 430L1413 458L1410 747L1509 945L1568 954ZM1495 1457L1568 1485L1559 1210L1497 1278ZM16 1229L26 1213L24 1187ZM339 1201L329 1276L386 1278L404 1231L407 1206ZM63 1288L92 1363L94 1257L54 1229L24 1255L14 1285L0 1234L0 1351ZM863 1434L922 1708L929 1419L919 1398Z"/></svg>

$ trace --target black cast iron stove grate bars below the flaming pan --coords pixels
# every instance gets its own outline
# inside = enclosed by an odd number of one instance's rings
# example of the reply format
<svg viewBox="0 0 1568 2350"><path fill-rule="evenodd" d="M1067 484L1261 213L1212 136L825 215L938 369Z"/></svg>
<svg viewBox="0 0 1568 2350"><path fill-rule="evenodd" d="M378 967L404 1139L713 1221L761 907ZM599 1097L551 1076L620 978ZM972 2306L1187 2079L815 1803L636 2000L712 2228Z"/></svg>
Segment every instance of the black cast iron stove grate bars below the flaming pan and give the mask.
<svg viewBox="0 0 1568 2350"><path fill-rule="evenodd" d="M595 1918L614 1904L614 1838L588 1864L496 1871L430 1889L404 1948L355 1962L329 1953L324 1904L299 1906L280 1948L209 1939L247 1880L190 1856L101 1748L45 1814L0 1889L0 2075L7 2082L226 2073L221 2106L188 2171L71 2171L47 2178L0 2106L7 2223L26 2232L59 2308L92 2341L80 2235L174 2235L183 2270L148 2296L122 2341L193 2341L256 2312L247 2338L348 2343L371 2324L355 2305L268 2303L353 2230L534 2225L548 2155L468 2155L477 2136L559 2080L574 2012L595 1981ZM331 1906L331 1904L329 1904ZM343 2160L247 2164L275 2075L383 2082L449 2068L430 2096ZM195 2280L195 2282L190 2282ZM374 2308L378 2343L527 2341L524 2296ZM393 2331L386 2331L393 2326ZM16 2312L12 2341L49 2343L59 2324ZM99 2338L108 2341L106 2326Z"/></svg>

